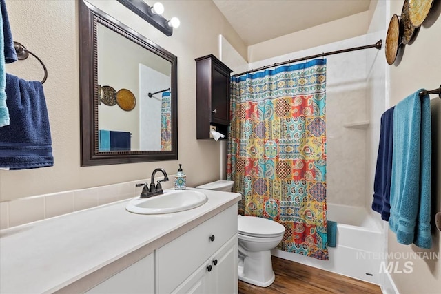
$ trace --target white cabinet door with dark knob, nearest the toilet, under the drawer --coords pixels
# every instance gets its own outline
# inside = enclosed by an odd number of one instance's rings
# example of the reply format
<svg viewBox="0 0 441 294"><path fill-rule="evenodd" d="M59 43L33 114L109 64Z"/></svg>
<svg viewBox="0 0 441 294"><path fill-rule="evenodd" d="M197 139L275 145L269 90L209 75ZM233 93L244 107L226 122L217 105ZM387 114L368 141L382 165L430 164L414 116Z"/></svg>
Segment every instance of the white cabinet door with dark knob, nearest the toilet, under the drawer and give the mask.
<svg viewBox="0 0 441 294"><path fill-rule="evenodd" d="M209 293L238 293L237 235L234 235L210 260Z"/></svg>

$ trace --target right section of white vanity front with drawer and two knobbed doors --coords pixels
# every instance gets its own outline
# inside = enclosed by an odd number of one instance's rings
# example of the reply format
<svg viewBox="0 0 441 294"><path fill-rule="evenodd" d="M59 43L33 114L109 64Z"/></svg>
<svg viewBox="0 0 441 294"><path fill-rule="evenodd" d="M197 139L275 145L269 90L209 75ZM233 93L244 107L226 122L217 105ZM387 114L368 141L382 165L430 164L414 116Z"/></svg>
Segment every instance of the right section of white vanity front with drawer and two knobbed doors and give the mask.
<svg viewBox="0 0 441 294"><path fill-rule="evenodd" d="M237 293L237 205L158 249L157 293Z"/></svg>

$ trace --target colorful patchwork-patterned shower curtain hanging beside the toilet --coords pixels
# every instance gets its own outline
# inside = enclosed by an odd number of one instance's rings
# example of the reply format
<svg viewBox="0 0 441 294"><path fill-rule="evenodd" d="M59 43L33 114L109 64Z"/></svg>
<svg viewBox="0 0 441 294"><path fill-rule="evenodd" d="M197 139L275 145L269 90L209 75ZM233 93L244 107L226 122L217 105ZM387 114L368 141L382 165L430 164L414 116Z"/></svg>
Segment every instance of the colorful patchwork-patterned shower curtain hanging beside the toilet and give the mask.
<svg viewBox="0 0 441 294"><path fill-rule="evenodd" d="M326 59L232 78L227 179L239 212L280 222L278 249L328 260Z"/></svg>

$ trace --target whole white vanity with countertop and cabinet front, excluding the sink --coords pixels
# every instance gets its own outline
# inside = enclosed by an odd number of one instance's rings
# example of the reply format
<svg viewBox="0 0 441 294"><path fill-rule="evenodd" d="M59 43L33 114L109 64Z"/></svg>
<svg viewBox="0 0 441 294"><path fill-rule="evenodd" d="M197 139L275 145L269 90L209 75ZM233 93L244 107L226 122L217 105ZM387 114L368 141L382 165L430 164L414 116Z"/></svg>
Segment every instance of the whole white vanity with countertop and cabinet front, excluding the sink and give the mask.
<svg viewBox="0 0 441 294"><path fill-rule="evenodd" d="M238 293L241 196L203 193L179 213L130 213L124 200L1 230L0 293Z"/></svg>

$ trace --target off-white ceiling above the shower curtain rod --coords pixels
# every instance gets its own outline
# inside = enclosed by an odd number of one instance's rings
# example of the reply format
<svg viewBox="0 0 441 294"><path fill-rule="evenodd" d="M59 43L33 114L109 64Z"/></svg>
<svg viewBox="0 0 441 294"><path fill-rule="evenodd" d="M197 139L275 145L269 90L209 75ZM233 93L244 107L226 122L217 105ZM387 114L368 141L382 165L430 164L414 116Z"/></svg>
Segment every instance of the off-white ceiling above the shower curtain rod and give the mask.
<svg viewBox="0 0 441 294"><path fill-rule="evenodd" d="M213 0L247 45L349 17L371 0Z"/></svg>

